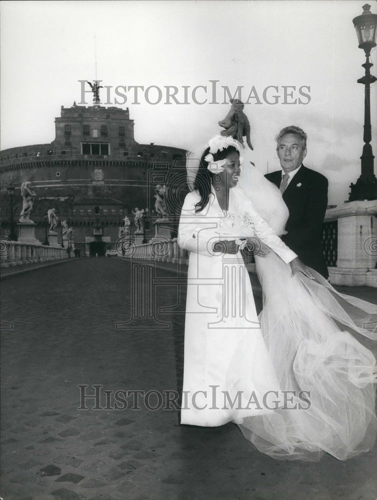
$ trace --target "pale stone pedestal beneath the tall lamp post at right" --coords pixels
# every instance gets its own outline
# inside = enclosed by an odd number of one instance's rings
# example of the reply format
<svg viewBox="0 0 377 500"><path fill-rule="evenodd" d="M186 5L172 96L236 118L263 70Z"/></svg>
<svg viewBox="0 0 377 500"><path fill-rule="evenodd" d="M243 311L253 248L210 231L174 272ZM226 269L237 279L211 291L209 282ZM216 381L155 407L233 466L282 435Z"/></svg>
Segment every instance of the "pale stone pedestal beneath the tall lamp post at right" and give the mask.
<svg viewBox="0 0 377 500"><path fill-rule="evenodd" d="M377 287L377 201L352 201L326 212L338 219L337 267L330 267L332 284Z"/></svg>

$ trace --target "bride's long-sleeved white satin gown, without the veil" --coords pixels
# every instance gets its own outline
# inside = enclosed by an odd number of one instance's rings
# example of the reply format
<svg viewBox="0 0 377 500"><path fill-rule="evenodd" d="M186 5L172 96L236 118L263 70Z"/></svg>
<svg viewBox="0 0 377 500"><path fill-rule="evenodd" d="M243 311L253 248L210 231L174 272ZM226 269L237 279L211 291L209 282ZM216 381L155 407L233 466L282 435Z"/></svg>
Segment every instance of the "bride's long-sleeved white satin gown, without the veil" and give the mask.
<svg viewBox="0 0 377 500"><path fill-rule="evenodd" d="M178 231L179 245L190 251L181 423L216 426L271 411L258 404L246 406L251 397L262 402L267 391L279 390L279 384L242 254L216 253L212 245L227 237L256 234L284 262L297 255L256 213L242 189L230 189L228 214L221 210L213 187L208 205L195 212L199 200L198 191L187 194ZM247 213L247 221L238 220L238 213ZM227 380L231 359L241 346L240 369ZM239 390L240 404L238 399L231 404Z"/></svg>

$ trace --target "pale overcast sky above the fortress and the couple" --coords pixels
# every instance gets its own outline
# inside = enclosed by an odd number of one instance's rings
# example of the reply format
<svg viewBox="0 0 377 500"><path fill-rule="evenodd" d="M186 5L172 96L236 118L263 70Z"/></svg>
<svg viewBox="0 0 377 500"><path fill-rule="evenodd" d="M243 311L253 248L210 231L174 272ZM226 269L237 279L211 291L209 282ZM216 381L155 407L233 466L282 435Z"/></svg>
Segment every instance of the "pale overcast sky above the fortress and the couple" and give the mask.
<svg viewBox="0 0 377 500"><path fill-rule="evenodd" d="M1 2L1 149L50 142L60 106L80 101L78 80L103 85L156 85L140 104L127 102L140 143L191 148L219 133L228 86L241 85L252 127L254 160L263 172L280 168L274 137L297 124L308 133L306 166L330 181L331 203L348 199L360 175L363 148L364 51L352 19L365 1L7 1ZM371 1L377 13L377 2ZM376 51L372 52L372 62ZM377 74L376 66L372 68ZM217 101L212 84L217 83ZM184 102L166 104L165 86ZM198 89L194 102L192 89ZM263 92L270 88L263 97ZM284 103L284 86L296 86ZM253 89L254 86L254 89ZM310 97L300 95L299 88ZM372 123L377 92L372 86ZM109 89L110 100L116 97ZM279 96L277 100L274 96ZM101 89L102 101L106 92ZM260 103L258 102L258 98ZM301 98L302 104L299 104ZM86 94L88 103L91 97ZM122 101L118 97L118 100ZM216 100L216 99L215 99ZM228 98L229 100L229 98ZM114 105L114 104L113 104ZM116 105L116 104L115 104ZM377 126L372 129L377 152ZM375 168L376 170L376 168Z"/></svg>

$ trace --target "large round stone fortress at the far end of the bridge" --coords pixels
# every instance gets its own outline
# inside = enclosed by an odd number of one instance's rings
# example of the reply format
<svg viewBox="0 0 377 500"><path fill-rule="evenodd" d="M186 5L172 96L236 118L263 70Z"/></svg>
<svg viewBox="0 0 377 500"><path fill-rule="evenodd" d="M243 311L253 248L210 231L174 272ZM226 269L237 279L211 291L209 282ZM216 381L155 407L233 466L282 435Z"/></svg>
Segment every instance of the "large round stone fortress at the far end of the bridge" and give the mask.
<svg viewBox="0 0 377 500"><path fill-rule="evenodd" d="M20 185L28 180L36 193L31 219L40 241L45 234L44 214L50 208L72 226L81 254L104 254L114 248L119 226L126 215L133 221L135 207L148 208L148 237L157 217L154 189L167 183L167 172L185 155L184 149L136 142L128 108L75 102L69 108L61 106L51 143L0 151L1 234L10 230L7 186L16 188L16 228L22 207ZM132 223L131 233L134 230Z"/></svg>

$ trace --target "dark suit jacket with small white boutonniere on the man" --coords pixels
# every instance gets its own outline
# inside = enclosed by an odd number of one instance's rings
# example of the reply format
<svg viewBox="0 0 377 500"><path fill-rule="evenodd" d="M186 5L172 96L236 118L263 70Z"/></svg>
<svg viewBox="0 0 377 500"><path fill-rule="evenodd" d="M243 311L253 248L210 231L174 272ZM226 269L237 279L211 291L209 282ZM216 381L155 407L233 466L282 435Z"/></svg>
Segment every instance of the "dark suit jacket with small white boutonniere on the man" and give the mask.
<svg viewBox="0 0 377 500"><path fill-rule="evenodd" d="M265 177L280 187L282 171L277 170ZM298 185L300 184L300 185ZM283 193L289 209L287 234L282 240L305 265L312 267L326 278L329 272L322 251L322 227L327 207L327 178L302 165Z"/></svg>

